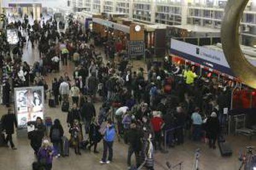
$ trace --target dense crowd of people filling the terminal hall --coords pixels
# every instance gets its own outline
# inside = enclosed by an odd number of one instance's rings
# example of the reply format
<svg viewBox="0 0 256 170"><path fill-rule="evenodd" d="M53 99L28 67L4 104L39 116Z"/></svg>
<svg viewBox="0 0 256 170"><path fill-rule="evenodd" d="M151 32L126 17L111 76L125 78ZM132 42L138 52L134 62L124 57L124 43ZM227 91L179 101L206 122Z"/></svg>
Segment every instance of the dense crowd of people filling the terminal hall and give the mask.
<svg viewBox="0 0 256 170"><path fill-rule="evenodd" d="M162 152L164 143L169 147L183 144L184 132L189 132L189 137L195 141L207 138L209 147L216 148L216 138L224 118L223 108L229 107L231 99L228 84L219 87L215 79L205 83L192 68L171 64L159 67L158 63L150 62L147 70L132 70L129 60L119 52L116 56L122 58L120 62L112 59L114 57L105 62L91 43L90 31L83 31L82 26L72 19L61 33L57 22L52 19L43 23L35 21L31 26L25 16L23 22L14 25L29 37L30 43L27 44L32 44L32 47L38 44L40 60L31 69L22 62L21 33L16 48L18 52L12 51L12 54L18 54L13 60L11 49L6 48L8 42L1 39L4 104L9 107L13 87L43 86L45 92L51 89L54 101L51 106L61 105L62 111L68 111L68 143L75 154L81 155L81 149L91 150L92 147L94 153L99 153L97 146L103 140L100 163L109 164L113 161L113 145L117 137L129 146L129 169L132 169L132 154L136 158L135 168L153 169L155 151ZM109 38L109 41L115 42L115 39ZM64 73L54 78L49 88L44 76L59 71L60 61L64 66L67 62L74 62L74 73L72 77ZM96 113L95 103L98 102L103 104ZM12 127L16 124L15 116L10 119L2 119L6 132L5 124L10 121ZM53 156L68 155L64 154L66 143L63 139L66 137L62 124L59 119L54 120L48 139L43 120L36 119L35 131L28 135L38 158L33 166L51 169ZM8 133L11 135L14 131ZM6 140L15 148L10 135Z"/></svg>

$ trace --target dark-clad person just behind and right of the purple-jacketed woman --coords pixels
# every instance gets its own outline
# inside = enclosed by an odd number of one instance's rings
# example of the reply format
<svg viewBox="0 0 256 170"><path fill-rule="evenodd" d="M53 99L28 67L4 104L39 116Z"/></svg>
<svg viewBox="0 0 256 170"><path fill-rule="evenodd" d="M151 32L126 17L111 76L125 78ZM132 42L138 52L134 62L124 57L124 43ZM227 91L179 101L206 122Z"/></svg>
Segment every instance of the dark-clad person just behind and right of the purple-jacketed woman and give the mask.
<svg viewBox="0 0 256 170"><path fill-rule="evenodd" d="M51 138L51 142L53 143L54 150L56 153L56 158L61 156L61 148L62 148L62 137L64 131L63 127L61 126L61 122L59 119L54 120L53 126L51 126L49 137Z"/></svg>

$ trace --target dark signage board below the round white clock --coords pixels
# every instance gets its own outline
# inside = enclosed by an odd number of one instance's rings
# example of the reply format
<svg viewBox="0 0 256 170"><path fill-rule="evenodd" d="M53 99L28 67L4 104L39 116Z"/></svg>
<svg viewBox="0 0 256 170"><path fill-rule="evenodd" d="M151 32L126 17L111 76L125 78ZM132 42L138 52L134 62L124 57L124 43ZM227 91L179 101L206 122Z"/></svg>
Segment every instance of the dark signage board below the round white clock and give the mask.
<svg viewBox="0 0 256 170"><path fill-rule="evenodd" d="M145 54L144 41L129 41L128 42L128 54L130 56L138 56Z"/></svg>

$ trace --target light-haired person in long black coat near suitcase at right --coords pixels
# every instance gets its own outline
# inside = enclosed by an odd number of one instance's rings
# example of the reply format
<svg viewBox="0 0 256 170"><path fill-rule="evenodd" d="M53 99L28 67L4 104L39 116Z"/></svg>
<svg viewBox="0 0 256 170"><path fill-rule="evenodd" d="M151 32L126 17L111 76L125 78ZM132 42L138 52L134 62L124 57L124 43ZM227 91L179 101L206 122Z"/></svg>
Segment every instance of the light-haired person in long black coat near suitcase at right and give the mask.
<svg viewBox="0 0 256 170"><path fill-rule="evenodd" d="M220 123L217 117L217 113L213 111L210 118L207 119L207 137L209 138L209 147L216 148L216 139L220 134Z"/></svg>

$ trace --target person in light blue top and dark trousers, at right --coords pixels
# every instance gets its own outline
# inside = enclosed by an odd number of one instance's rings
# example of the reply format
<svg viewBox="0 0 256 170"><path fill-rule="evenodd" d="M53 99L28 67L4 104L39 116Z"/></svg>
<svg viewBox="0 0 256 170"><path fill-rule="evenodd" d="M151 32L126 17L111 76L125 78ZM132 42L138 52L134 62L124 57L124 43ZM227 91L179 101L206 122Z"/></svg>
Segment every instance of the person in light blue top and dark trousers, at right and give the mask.
<svg viewBox="0 0 256 170"><path fill-rule="evenodd" d="M199 114L199 108L195 108L195 112L192 113L191 116L192 119L192 134L193 134L193 140L200 140L201 137L201 129L202 129L202 116Z"/></svg>

